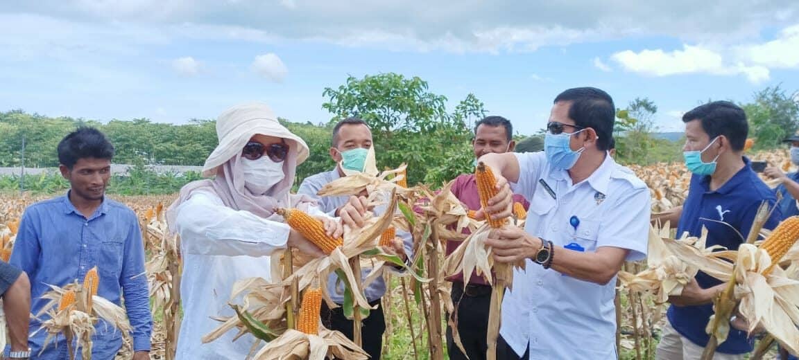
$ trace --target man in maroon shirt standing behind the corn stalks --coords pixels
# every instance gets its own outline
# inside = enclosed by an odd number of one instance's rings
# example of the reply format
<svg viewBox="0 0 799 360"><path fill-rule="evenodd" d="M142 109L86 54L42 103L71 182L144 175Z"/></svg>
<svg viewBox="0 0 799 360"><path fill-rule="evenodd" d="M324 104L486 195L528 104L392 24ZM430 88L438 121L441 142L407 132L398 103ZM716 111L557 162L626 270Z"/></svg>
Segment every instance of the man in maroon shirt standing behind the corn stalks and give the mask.
<svg viewBox="0 0 799 360"><path fill-rule="evenodd" d="M475 124L475 138L471 140L475 151L475 159L489 152L513 152L515 141L513 125L504 117L485 117ZM477 194L475 174L463 174L455 179L451 191L467 206L469 210L480 209L480 198ZM514 195L514 201L522 203L527 209L529 204L523 196ZM460 245L460 241L447 241L447 255ZM457 311L458 334L463 348L470 360L486 358L488 345L486 342L488 329L488 310L491 307L491 284L482 276L472 275L468 285L463 284L463 274L454 275L452 282L452 303ZM452 340L452 329L447 326L447 348L452 360L466 359Z"/></svg>

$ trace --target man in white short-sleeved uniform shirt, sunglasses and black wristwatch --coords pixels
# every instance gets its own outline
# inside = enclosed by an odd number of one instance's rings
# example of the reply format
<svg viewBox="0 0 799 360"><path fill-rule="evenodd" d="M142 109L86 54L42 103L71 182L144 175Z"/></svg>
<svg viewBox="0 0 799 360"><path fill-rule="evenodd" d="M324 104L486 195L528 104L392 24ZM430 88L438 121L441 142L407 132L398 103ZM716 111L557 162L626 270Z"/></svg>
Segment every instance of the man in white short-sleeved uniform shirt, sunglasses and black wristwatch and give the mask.
<svg viewBox="0 0 799 360"><path fill-rule="evenodd" d="M555 97L544 152L480 158L500 189L481 212L509 216L511 191L531 203L524 230L487 240L495 260L527 265L503 301L498 358L618 358L616 274L646 257L650 192L608 155L614 120L607 93L568 89Z"/></svg>

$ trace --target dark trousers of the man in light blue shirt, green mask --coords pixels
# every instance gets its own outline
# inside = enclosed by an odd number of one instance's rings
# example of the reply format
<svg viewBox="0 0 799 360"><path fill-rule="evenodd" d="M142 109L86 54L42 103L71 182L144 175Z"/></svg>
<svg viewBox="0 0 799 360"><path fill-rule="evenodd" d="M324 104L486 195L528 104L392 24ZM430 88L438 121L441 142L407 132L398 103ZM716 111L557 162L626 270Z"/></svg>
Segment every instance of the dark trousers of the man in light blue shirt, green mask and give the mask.
<svg viewBox="0 0 799 360"><path fill-rule="evenodd" d="M383 315L383 307L380 299L369 303L375 310L369 311L369 316L361 322L360 336L364 342L363 349L369 354L370 359L380 360L380 352L383 350L383 333L386 331L386 318ZM341 307L331 309L328 304L322 301L320 311L322 324L330 330L336 330L352 340L352 320L344 316Z"/></svg>

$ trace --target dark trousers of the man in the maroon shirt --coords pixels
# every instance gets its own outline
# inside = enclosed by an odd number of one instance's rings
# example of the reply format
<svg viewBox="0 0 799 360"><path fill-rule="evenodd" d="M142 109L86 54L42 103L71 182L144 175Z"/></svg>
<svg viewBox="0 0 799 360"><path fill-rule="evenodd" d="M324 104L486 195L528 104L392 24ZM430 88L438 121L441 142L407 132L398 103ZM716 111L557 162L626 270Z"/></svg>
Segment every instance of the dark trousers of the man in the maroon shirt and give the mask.
<svg viewBox="0 0 799 360"><path fill-rule="evenodd" d="M469 360L485 360L488 344L488 313L491 308L491 287L452 283L452 303L457 309L458 334ZM452 328L447 326L447 350L451 360L466 360L466 355L455 345Z"/></svg>

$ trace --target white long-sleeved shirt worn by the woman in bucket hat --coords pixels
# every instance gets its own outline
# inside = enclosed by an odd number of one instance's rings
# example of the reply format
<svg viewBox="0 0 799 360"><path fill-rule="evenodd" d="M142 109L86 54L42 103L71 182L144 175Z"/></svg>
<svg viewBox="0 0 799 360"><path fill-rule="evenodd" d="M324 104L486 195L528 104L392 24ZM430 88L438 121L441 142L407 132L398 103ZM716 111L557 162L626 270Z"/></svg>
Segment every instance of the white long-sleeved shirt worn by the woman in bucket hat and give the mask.
<svg viewBox="0 0 799 360"><path fill-rule="evenodd" d="M313 215L321 214L315 207ZM268 255L284 249L290 228L280 216L264 219L228 208L213 192L198 190L177 208L184 269L181 280L183 322L177 342L178 359L244 358L256 338L247 334L232 342L231 330L213 342L201 338L221 322L211 317L234 316L229 307L233 283L240 279L270 279Z"/></svg>

